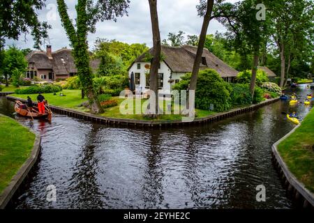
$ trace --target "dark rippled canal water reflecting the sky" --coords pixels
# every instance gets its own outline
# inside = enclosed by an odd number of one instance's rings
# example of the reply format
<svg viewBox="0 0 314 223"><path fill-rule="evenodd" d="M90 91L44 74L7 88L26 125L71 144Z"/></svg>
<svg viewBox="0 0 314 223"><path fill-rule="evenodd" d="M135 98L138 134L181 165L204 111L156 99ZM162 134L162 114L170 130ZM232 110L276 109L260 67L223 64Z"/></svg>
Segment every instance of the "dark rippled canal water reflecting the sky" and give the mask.
<svg viewBox="0 0 314 223"><path fill-rule="evenodd" d="M301 101L307 93L299 86ZM271 162L271 145L311 107L276 102L202 126L112 128L54 114L52 123L0 113L42 136L31 177L13 208L294 208ZM46 201L54 185L57 201ZM257 202L257 185L266 201Z"/></svg>

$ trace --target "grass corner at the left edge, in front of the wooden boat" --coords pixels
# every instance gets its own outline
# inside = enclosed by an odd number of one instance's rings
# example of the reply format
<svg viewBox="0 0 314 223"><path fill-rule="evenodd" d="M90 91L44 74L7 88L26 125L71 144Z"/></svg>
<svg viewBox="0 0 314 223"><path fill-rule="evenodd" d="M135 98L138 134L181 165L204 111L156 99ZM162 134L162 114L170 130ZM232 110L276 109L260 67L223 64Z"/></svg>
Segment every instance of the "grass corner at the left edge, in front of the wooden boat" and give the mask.
<svg viewBox="0 0 314 223"><path fill-rule="evenodd" d="M35 134L12 118L0 115L0 194L29 157Z"/></svg>

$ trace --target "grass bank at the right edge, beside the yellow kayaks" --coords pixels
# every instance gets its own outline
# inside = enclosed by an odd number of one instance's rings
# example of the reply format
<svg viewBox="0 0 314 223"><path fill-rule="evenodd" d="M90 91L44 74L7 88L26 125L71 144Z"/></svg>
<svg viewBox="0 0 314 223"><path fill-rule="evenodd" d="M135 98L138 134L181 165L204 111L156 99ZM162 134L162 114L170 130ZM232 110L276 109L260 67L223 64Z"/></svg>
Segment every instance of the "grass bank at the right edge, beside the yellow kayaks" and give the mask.
<svg viewBox="0 0 314 223"><path fill-rule="evenodd" d="M278 151L292 174L314 192L314 109L301 126L278 145Z"/></svg>

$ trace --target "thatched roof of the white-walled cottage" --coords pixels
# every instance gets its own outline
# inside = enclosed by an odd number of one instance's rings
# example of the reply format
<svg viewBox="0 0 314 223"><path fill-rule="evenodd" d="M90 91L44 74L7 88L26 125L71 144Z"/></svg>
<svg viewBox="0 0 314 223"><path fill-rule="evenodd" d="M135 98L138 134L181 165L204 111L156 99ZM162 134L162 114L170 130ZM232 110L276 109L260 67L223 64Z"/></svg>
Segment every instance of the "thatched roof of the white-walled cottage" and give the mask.
<svg viewBox="0 0 314 223"><path fill-rule="evenodd" d="M169 66L172 72L192 72L193 63L197 47L184 45L181 47L161 46L161 53L164 56L164 62ZM149 49L149 53L153 52L153 48ZM147 52L135 59L136 62L145 62ZM216 70L221 77L236 77L238 71L231 68L217 56L204 48L202 56L206 59L207 65L200 64L200 69L211 68Z"/></svg>

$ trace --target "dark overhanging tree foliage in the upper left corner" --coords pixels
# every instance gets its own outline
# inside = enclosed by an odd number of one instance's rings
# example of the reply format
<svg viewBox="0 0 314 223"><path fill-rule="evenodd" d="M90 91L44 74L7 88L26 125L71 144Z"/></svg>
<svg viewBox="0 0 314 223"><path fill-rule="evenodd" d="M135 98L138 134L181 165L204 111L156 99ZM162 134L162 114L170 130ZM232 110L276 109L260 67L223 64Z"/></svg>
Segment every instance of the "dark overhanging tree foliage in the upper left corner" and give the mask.
<svg viewBox="0 0 314 223"><path fill-rule="evenodd" d="M39 49L48 38L47 29L50 29L50 26L47 22L39 22L36 13L36 10L44 6L45 0L0 1L0 72L3 70L1 51L6 39L17 40L22 33L31 34L35 41L34 47ZM6 86L8 86L8 79L6 79Z"/></svg>

